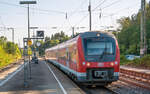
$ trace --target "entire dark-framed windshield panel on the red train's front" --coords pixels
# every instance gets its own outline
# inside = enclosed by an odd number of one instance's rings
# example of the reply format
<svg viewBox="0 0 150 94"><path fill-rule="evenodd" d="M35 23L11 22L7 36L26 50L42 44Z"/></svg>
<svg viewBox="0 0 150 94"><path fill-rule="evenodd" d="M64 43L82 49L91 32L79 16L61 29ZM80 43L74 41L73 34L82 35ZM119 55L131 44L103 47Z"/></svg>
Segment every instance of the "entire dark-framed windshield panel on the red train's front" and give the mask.
<svg viewBox="0 0 150 94"><path fill-rule="evenodd" d="M115 40L113 38L83 39L85 59L87 61L113 61L115 59Z"/></svg>

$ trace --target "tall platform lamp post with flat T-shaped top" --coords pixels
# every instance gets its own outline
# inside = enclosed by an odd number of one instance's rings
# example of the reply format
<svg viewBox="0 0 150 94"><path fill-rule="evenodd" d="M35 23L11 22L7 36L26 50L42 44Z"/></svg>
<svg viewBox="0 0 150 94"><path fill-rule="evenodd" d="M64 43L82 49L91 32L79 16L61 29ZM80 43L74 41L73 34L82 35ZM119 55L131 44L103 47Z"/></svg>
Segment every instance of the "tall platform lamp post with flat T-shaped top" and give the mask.
<svg viewBox="0 0 150 94"><path fill-rule="evenodd" d="M29 12L29 5L30 4L36 4L36 1L20 1L20 4L26 4L27 7L27 11L28 11L28 41L30 40L30 12ZM29 45L28 45L29 48ZM29 55L29 69L30 69L30 74L29 74L29 78L31 79L31 64L30 64L30 55Z"/></svg>

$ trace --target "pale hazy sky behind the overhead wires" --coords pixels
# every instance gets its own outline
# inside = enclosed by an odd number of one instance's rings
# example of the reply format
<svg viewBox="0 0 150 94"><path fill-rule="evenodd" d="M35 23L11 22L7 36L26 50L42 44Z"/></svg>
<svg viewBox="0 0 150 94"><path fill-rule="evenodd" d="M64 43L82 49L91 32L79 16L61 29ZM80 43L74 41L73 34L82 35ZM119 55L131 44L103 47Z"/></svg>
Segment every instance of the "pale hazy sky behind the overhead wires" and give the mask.
<svg viewBox="0 0 150 94"><path fill-rule="evenodd" d="M13 27L15 43L22 46L23 38L27 37L27 5L20 5L19 1L0 0L0 36L12 41L12 32L6 28ZM75 32L89 30L89 0L36 1L37 4L30 5L30 27L44 30L45 36L60 31L71 35L71 27L75 27ZM141 0L91 0L92 30L106 30L110 26L118 28L117 19L137 13L140 3ZM31 36L33 31L36 30L30 30Z"/></svg>

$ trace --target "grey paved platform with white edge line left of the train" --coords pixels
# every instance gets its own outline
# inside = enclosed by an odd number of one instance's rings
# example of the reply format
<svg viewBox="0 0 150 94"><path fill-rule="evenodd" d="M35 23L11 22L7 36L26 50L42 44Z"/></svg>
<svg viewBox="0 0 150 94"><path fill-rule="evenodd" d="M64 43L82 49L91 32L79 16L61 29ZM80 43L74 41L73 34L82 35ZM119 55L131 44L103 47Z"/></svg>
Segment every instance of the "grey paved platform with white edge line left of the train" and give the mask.
<svg viewBox="0 0 150 94"><path fill-rule="evenodd" d="M9 77L0 81L0 94L83 94L66 75L45 61L31 63L31 79L24 87L24 71L20 65Z"/></svg>

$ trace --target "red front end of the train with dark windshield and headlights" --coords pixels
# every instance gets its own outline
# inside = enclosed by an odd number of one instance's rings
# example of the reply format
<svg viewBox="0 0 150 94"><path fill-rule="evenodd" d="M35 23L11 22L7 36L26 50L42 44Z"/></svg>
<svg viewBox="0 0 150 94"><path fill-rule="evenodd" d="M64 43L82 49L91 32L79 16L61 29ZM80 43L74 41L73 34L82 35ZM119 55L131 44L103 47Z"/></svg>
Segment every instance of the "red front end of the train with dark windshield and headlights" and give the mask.
<svg viewBox="0 0 150 94"><path fill-rule="evenodd" d="M85 84L107 85L119 79L120 53L112 34L86 32L78 40L78 80Z"/></svg>

